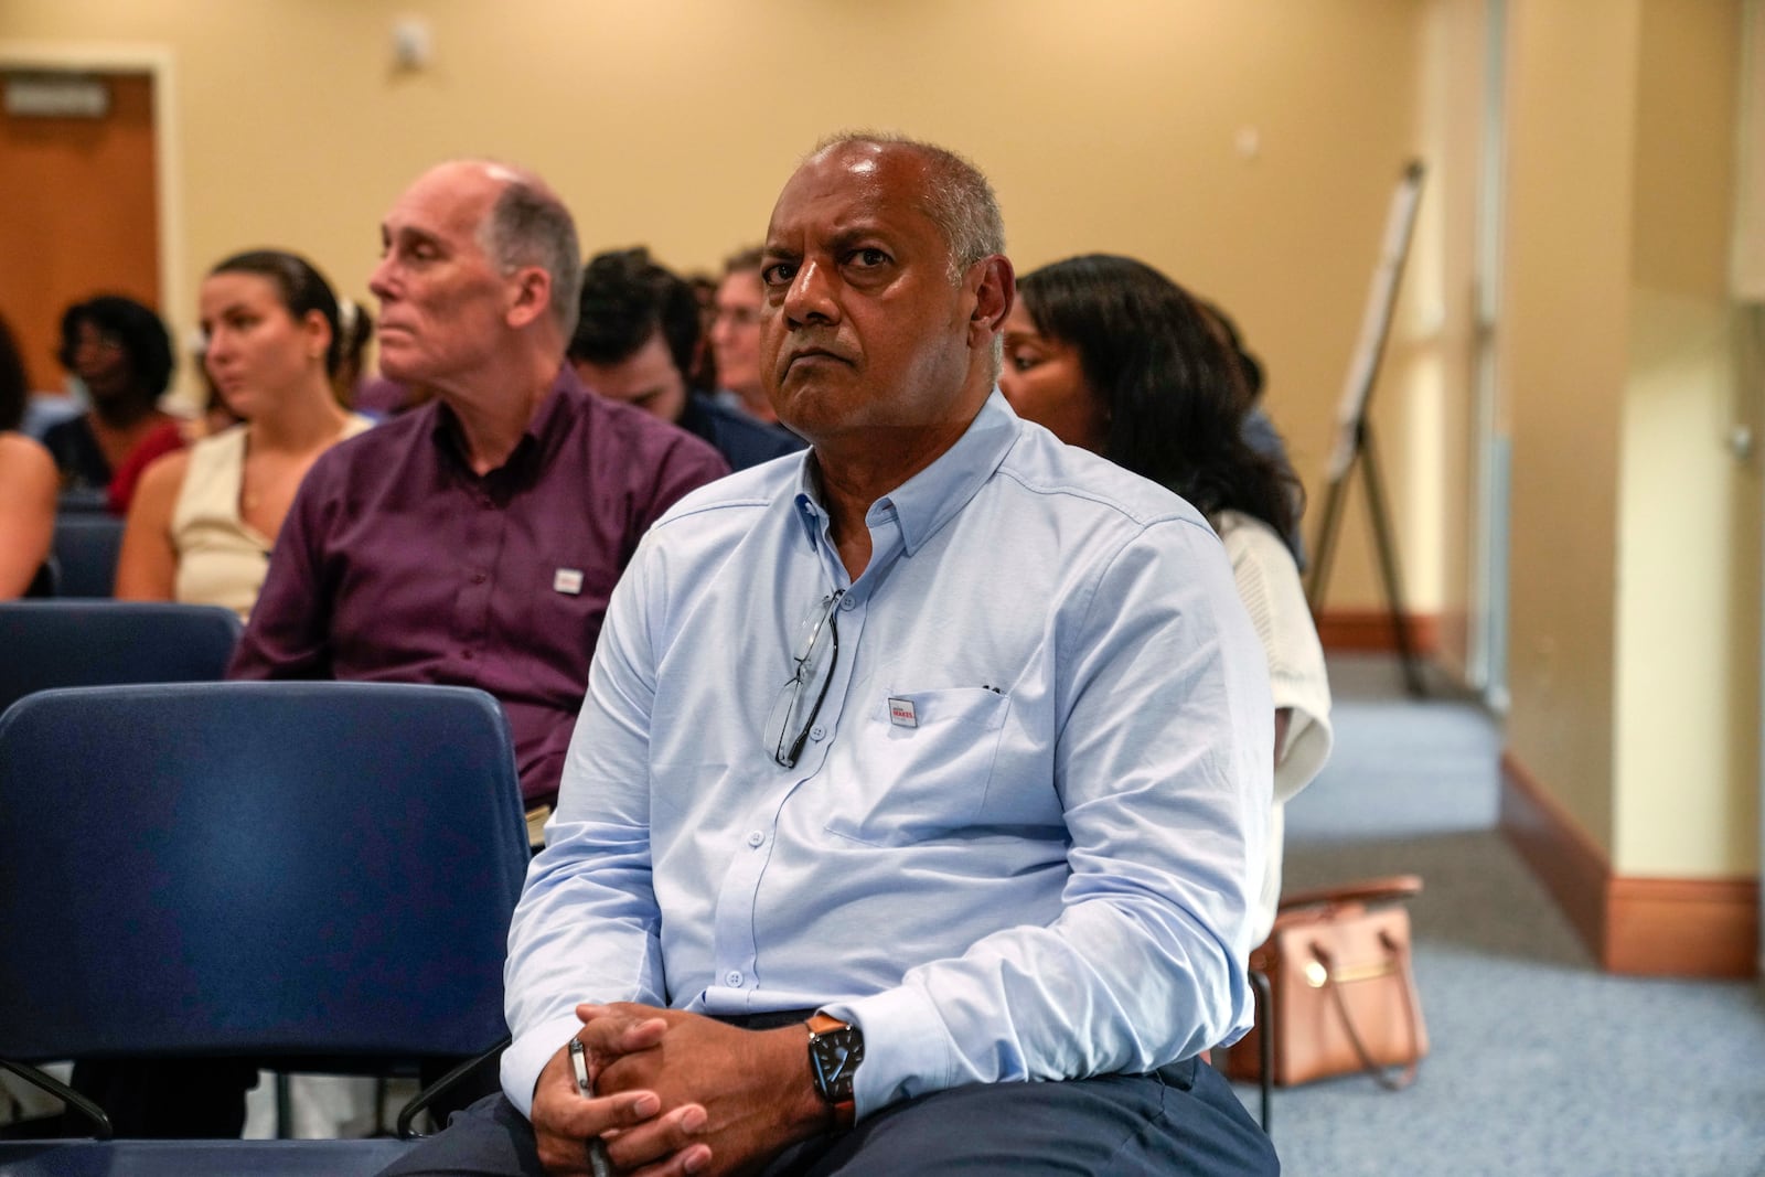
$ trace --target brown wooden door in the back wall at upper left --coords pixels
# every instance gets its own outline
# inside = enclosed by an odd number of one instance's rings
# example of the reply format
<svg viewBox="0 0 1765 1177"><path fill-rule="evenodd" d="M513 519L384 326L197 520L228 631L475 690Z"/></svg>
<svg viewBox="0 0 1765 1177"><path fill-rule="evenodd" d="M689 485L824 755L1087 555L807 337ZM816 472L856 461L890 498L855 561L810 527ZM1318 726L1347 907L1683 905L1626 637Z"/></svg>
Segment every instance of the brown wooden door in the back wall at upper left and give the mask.
<svg viewBox="0 0 1765 1177"><path fill-rule="evenodd" d="M102 81L102 118L14 116L0 106L0 316L32 388L62 386L55 349L69 304L108 293L162 311L154 81Z"/></svg>

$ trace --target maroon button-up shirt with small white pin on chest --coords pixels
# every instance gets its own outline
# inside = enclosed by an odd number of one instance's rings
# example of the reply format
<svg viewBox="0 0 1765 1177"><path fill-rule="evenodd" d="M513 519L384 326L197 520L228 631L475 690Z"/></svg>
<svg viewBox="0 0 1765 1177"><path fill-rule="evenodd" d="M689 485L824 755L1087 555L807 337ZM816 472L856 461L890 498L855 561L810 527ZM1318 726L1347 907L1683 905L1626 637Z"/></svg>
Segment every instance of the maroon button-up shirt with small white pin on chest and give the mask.
<svg viewBox="0 0 1765 1177"><path fill-rule="evenodd" d="M228 676L482 686L508 713L522 794L549 801L612 584L674 499L725 473L568 367L482 478L431 402L312 464Z"/></svg>

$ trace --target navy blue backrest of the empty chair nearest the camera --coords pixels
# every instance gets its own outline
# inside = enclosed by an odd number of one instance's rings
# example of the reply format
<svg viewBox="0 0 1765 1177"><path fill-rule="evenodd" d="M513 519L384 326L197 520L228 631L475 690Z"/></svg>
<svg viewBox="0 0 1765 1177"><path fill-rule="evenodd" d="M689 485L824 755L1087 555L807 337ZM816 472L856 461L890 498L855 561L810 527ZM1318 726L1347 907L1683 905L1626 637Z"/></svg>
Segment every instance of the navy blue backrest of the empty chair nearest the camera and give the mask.
<svg viewBox="0 0 1765 1177"><path fill-rule="evenodd" d="M487 693L189 683L0 716L0 1057L362 1069L498 1043L530 861Z"/></svg>

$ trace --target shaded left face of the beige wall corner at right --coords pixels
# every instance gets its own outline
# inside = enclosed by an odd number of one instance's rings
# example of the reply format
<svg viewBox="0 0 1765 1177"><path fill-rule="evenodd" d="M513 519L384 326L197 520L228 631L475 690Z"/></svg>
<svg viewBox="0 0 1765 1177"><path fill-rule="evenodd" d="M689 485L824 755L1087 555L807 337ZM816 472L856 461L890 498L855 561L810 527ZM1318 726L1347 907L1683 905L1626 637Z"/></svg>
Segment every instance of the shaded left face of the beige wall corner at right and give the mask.
<svg viewBox="0 0 1765 1177"><path fill-rule="evenodd" d="M1507 738L1608 849L1640 23L1636 0L1509 9L1498 344L1513 438Z"/></svg>

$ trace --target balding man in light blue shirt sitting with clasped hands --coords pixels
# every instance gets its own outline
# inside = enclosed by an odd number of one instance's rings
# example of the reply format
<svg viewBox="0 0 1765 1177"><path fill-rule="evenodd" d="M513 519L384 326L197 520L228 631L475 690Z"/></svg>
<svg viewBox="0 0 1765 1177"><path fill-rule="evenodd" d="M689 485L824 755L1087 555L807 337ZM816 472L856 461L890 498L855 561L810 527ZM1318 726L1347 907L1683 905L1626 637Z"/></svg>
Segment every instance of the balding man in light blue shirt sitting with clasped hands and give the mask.
<svg viewBox="0 0 1765 1177"><path fill-rule="evenodd" d="M762 371L814 448L681 499L614 591L507 1099L441 1138L537 1166L471 1172L1278 1172L1198 1061L1251 1018L1262 648L1191 506L994 388L1001 238L921 143L780 196Z"/></svg>

